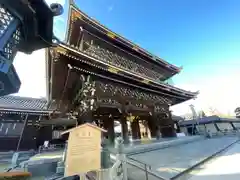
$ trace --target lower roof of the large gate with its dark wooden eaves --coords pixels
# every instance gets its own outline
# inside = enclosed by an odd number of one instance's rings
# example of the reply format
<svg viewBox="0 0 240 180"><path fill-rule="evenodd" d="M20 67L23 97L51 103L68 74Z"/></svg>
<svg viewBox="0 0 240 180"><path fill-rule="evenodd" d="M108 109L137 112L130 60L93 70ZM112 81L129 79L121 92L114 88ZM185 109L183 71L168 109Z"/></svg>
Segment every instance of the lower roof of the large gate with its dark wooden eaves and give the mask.
<svg viewBox="0 0 240 180"><path fill-rule="evenodd" d="M48 49L47 61L49 98L65 105L73 104L77 90L82 87L81 75L91 75L96 82L96 98L110 98L118 102L126 99L143 104L174 105L197 95L168 84L150 82L121 69L113 70L108 64L68 45ZM102 87L107 91L105 94Z"/></svg>

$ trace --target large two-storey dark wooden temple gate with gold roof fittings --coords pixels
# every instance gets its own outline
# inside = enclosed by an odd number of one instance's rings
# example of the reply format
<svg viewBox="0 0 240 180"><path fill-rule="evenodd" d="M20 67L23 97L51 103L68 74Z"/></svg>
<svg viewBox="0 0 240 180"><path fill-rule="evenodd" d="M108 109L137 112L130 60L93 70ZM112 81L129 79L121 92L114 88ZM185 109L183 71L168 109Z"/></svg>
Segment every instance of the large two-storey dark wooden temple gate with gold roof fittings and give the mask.
<svg viewBox="0 0 240 180"><path fill-rule="evenodd" d="M66 41L46 52L47 98L77 124L95 123L114 140L114 121L125 142L175 137L169 107L197 96L166 83L181 68L149 53L69 4ZM66 116L67 114L67 116ZM141 122L139 124L139 122ZM141 126L141 127L140 127ZM147 128L143 133L140 129Z"/></svg>

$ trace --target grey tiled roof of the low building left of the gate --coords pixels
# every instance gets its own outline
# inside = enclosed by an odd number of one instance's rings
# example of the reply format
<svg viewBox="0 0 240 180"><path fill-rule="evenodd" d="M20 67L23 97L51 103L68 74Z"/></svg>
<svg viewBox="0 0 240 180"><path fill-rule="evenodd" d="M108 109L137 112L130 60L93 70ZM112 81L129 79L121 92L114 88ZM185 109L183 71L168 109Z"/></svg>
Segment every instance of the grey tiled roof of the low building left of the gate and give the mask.
<svg viewBox="0 0 240 180"><path fill-rule="evenodd" d="M0 97L0 110L1 109L20 109L20 110L48 110L46 99L37 99L20 96L1 96Z"/></svg>

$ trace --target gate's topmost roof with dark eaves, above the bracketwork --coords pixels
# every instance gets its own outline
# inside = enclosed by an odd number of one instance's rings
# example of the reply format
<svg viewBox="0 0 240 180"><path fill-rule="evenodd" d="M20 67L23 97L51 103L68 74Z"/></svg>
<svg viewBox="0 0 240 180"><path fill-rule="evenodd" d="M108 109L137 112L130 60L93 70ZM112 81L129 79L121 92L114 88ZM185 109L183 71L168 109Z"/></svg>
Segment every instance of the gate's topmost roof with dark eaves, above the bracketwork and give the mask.
<svg viewBox="0 0 240 180"><path fill-rule="evenodd" d="M104 53L110 53L110 55L111 53L117 52L116 54L121 56L121 54L125 53L125 55L121 57L122 61L132 60L132 63L137 62L139 66L142 65L143 67L149 66L150 64L152 71L161 72L160 74L155 73L155 76L162 81L180 72L181 68L149 53L90 18L83 13L73 1L70 1L68 14L66 42L70 45L75 47L79 46L80 39L85 38L88 39L89 42L94 42L91 48L89 48L89 51L91 51L90 49L94 50L94 48L98 48L99 51L105 50ZM89 51L88 53L90 53ZM128 68L128 70L131 70L131 68ZM144 73L140 72L140 74Z"/></svg>

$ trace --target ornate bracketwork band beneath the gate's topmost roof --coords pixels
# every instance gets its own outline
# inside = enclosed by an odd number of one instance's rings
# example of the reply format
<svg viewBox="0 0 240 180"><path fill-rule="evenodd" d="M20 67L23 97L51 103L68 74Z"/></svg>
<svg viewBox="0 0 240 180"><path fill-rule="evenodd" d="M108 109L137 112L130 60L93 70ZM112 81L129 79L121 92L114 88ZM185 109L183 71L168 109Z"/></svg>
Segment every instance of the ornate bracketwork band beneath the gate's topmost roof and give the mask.
<svg viewBox="0 0 240 180"><path fill-rule="evenodd" d="M153 80L159 80L162 77L161 73L154 71L153 69L148 69L141 64L137 64L133 59L129 59L120 56L116 52L112 52L100 46L96 46L93 43L87 41L84 42L86 47L88 47L84 52L91 55L99 60L105 61L114 66L120 67L122 69L131 71L143 77L151 78Z"/></svg>

